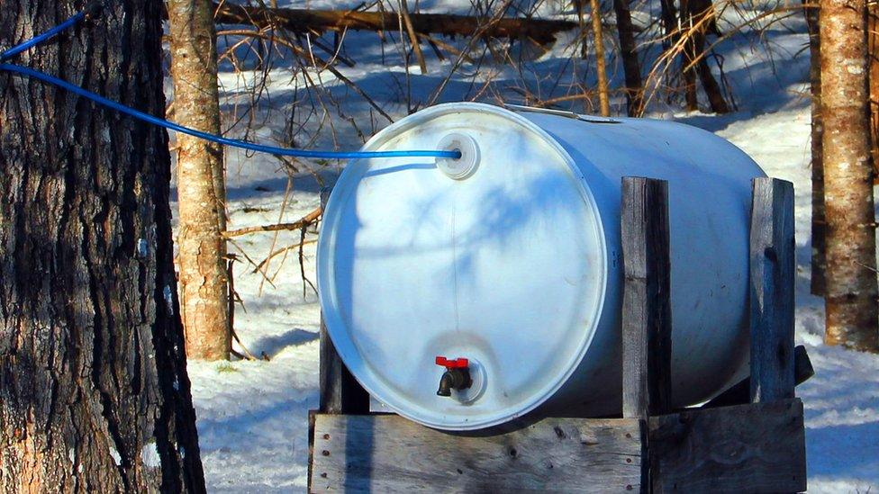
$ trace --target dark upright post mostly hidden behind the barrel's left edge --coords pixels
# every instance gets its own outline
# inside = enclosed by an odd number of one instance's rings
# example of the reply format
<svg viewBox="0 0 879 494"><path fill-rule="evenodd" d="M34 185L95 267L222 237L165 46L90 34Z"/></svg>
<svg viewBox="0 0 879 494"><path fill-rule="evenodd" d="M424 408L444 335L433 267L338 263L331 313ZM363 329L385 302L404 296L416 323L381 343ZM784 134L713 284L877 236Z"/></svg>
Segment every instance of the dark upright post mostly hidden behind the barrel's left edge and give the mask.
<svg viewBox="0 0 879 494"><path fill-rule="evenodd" d="M321 207L330 198L329 188L321 191ZM369 393L354 379L333 346L321 316L321 402L322 413L369 413Z"/></svg>

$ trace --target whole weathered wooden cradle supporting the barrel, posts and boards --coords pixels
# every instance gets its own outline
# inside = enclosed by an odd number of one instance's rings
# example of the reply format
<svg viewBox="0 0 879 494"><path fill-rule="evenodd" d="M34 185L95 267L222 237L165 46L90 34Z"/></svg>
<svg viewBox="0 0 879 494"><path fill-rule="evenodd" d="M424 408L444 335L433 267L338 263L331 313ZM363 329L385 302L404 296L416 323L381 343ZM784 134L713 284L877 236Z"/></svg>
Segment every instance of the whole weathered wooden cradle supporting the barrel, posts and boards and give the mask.
<svg viewBox="0 0 879 494"><path fill-rule="evenodd" d="M702 408L670 409L668 188L626 177L622 418L526 418L464 435L369 414L366 392L322 328L322 413L311 416L309 490L805 490L802 402L793 386L813 371L805 349L793 347L793 187L758 178L753 192L751 378Z"/></svg>

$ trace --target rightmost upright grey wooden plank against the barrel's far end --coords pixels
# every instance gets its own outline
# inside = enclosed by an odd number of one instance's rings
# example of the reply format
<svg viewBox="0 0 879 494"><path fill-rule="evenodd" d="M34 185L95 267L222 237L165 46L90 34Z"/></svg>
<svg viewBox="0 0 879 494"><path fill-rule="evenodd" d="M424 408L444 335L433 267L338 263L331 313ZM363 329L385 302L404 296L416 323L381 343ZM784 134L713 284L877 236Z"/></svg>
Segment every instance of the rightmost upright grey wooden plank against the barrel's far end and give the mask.
<svg viewBox="0 0 879 494"><path fill-rule="evenodd" d="M793 184L754 179L749 301L752 403L793 398L793 236Z"/></svg>

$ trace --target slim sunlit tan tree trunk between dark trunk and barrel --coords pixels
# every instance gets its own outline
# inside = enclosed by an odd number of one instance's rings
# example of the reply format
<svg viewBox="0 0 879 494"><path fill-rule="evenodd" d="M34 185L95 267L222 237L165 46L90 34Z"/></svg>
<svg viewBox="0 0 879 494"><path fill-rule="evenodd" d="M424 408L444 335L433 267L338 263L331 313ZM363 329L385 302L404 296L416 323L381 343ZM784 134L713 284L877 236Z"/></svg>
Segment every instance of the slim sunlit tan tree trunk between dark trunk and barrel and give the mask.
<svg viewBox="0 0 879 494"><path fill-rule="evenodd" d="M182 125L220 133L217 49L211 0L168 0L174 115ZM225 360L231 350L226 279L222 147L177 136L180 316L190 358Z"/></svg>

